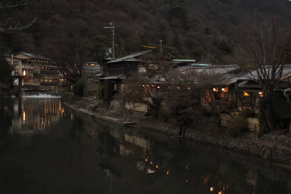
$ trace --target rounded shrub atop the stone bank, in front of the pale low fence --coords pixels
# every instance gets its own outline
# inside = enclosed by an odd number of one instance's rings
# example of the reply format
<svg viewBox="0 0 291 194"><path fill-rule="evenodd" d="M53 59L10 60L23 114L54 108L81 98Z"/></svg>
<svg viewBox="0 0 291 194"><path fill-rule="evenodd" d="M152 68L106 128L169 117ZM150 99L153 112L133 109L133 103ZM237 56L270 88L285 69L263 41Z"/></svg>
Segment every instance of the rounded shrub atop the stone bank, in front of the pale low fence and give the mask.
<svg viewBox="0 0 291 194"><path fill-rule="evenodd" d="M248 122L244 117L233 117L228 120L228 127L226 128L226 134L237 137L242 132L248 130Z"/></svg>

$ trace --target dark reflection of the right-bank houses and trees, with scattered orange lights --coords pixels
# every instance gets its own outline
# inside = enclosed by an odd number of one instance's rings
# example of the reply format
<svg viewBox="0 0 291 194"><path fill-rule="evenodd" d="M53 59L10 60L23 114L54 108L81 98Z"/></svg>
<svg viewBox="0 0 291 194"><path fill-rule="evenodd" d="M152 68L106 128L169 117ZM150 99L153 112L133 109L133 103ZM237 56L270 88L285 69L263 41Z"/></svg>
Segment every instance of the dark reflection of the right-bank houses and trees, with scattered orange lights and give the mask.
<svg viewBox="0 0 291 194"><path fill-rule="evenodd" d="M189 147L182 145L183 142L177 145L144 138L132 130L104 128L98 128L94 133L97 137L93 139L97 141L98 152L106 156L99 165L105 177L111 179L112 176L115 180L113 188L124 185L127 180L145 190L146 185L151 187L150 191L162 189L163 193L291 191L291 176L288 173L286 182L263 176L256 169L217 152L214 147L201 144ZM265 170L270 175L275 172L274 169Z"/></svg>

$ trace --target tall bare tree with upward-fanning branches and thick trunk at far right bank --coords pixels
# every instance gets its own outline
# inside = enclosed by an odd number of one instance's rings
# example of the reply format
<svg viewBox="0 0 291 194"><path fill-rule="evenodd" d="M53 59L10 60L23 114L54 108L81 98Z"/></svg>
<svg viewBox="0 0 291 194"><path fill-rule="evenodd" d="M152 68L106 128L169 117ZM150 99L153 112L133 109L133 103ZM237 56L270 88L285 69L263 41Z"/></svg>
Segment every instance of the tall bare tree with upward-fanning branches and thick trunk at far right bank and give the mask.
<svg viewBox="0 0 291 194"><path fill-rule="evenodd" d="M275 130L271 99L274 88L281 81L286 64L291 61L291 27L281 27L277 19L268 19L260 28L245 28L244 43L237 48L236 61L244 68L253 70L249 79L263 89L260 102L262 117L267 130Z"/></svg>

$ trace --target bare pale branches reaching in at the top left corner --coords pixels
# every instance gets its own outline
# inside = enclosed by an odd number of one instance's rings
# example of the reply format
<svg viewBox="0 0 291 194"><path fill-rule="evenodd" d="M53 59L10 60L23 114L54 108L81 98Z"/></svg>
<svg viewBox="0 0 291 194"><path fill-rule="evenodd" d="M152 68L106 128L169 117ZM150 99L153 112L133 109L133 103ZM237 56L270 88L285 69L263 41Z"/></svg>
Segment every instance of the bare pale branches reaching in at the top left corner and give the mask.
<svg viewBox="0 0 291 194"><path fill-rule="evenodd" d="M28 1L28 0L19 0L16 3L11 3L10 1L6 1L6 0L0 1L0 10L5 9L5 8L15 8L19 6L25 6L33 2L34 1ZM4 21L0 20L0 32L6 32L6 33L19 32L19 31L29 28L34 22L36 22L36 20L37 20L37 17L34 16L33 19L29 23L24 24L24 25L20 23L17 23L15 25L8 25L8 24L5 24Z"/></svg>

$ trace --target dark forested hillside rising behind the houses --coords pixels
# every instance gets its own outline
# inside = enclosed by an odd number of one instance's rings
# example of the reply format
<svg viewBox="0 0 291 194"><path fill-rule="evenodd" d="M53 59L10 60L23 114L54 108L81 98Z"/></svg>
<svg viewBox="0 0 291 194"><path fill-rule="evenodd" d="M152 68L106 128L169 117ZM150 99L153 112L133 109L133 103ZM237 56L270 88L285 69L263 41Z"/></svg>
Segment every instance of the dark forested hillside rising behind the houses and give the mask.
<svg viewBox="0 0 291 194"><path fill-rule="evenodd" d="M256 10L256 11L255 11ZM256 13L256 17L255 17ZM259 24L267 17L291 18L289 0L40 0L2 9L6 24L38 20L26 34L2 33L1 50L46 52L48 40L92 38L92 57L104 43L110 46L109 22L116 27L117 54L159 46L180 58L209 61L221 40L236 40L242 24ZM30 35L29 35L30 34ZM4 46L5 45L5 46ZM221 45L220 45L221 46Z"/></svg>

